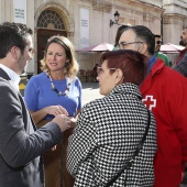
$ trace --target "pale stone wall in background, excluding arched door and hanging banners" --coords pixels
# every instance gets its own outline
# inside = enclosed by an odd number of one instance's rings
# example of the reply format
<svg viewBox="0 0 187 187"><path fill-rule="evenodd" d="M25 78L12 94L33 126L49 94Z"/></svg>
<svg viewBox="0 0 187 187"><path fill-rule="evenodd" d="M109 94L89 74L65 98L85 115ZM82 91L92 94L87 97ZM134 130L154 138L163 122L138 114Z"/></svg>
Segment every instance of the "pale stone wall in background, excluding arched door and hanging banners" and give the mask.
<svg viewBox="0 0 187 187"><path fill-rule="evenodd" d="M114 12L120 13L120 24L143 24L153 33L163 34L164 43L178 44L184 26L187 26L186 0L28 0L26 23L34 30L34 46L37 48L37 19L42 11L52 9L63 19L68 38L75 48L80 48L80 9L89 10L89 45L108 42L113 44L118 24L110 28ZM0 0L0 21L13 21L13 1ZM163 22L162 22L163 21ZM80 68L91 69L101 53L76 53ZM35 73L36 58L26 72Z"/></svg>

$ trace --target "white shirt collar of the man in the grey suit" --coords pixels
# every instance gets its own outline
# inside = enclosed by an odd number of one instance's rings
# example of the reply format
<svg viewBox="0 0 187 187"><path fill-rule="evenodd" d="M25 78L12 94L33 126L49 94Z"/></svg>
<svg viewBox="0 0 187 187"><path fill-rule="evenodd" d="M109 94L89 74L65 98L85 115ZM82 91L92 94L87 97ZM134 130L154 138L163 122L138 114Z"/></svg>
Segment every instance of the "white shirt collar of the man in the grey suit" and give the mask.
<svg viewBox="0 0 187 187"><path fill-rule="evenodd" d="M19 82L20 82L20 76L14 73L12 69L10 69L9 67L0 64L0 68L2 68L7 74L8 76L10 77L11 79L11 82L16 87L16 89L19 89Z"/></svg>

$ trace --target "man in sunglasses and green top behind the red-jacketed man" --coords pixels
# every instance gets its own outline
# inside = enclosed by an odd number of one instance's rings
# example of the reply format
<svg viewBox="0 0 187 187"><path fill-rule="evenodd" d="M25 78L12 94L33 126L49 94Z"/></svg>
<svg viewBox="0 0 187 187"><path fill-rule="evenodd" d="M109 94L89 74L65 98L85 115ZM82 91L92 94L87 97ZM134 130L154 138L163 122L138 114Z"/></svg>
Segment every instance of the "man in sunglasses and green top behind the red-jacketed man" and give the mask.
<svg viewBox="0 0 187 187"><path fill-rule="evenodd" d="M154 35L154 38L155 38L155 50L154 50L154 51L155 51L155 56L156 56L157 58L163 59L164 63L165 63L165 65L168 66L168 67L170 67L169 59L168 59L167 55L165 55L164 53L161 53L161 52L160 52L161 45L162 45L162 43L163 43L161 35L155 34L155 35Z"/></svg>

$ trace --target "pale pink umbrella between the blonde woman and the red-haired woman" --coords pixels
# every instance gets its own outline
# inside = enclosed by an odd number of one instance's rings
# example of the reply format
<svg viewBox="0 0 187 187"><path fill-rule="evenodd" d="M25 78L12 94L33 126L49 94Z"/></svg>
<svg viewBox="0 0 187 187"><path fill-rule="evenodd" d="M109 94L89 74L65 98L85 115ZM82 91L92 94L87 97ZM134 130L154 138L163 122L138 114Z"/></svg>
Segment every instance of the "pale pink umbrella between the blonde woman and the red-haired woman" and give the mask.
<svg viewBox="0 0 187 187"><path fill-rule="evenodd" d="M112 51L113 45L109 43L101 43L98 45L92 45L86 48L78 50L77 52L107 52L107 51Z"/></svg>

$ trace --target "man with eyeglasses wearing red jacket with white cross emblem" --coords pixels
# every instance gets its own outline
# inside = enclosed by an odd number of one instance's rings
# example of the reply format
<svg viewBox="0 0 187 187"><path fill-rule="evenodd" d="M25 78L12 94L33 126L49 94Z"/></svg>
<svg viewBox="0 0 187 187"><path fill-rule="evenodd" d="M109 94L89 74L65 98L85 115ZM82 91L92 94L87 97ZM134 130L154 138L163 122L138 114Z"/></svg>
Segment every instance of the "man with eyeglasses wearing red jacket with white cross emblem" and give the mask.
<svg viewBox="0 0 187 187"><path fill-rule="evenodd" d="M148 58L140 90L156 119L154 187L177 187L187 162L187 79L156 58L154 47L154 34L143 25L127 28L119 41L119 48L138 51Z"/></svg>

